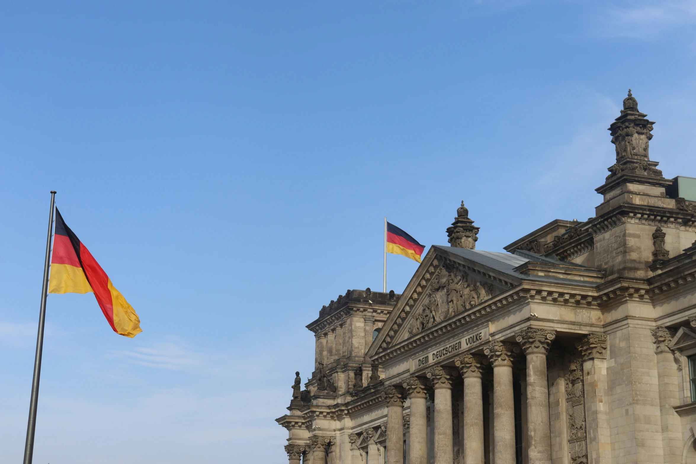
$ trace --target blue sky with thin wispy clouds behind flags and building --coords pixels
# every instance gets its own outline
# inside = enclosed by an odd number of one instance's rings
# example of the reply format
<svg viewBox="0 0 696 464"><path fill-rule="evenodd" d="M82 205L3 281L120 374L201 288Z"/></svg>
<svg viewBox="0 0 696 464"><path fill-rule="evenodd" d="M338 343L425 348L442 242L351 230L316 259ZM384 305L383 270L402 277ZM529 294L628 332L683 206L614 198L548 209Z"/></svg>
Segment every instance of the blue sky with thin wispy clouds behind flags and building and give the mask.
<svg viewBox="0 0 696 464"><path fill-rule="evenodd" d="M35 463L278 463L304 326L386 216L477 248L594 216L633 89L696 177L696 1L3 2L0 462L24 449L49 190L139 313L50 295ZM388 258L400 292L417 264Z"/></svg>

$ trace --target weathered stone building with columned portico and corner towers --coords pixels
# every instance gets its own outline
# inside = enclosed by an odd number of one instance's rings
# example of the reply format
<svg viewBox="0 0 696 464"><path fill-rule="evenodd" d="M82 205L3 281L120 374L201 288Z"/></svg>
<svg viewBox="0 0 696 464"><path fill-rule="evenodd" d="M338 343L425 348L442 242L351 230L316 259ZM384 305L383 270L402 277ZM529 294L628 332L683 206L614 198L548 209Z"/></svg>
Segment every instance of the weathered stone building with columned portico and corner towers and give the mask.
<svg viewBox="0 0 696 464"><path fill-rule="evenodd" d="M404 294L323 307L290 464L696 463L696 202L646 116L629 92L593 218L496 253L462 204Z"/></svg>

